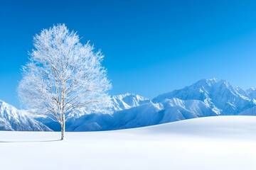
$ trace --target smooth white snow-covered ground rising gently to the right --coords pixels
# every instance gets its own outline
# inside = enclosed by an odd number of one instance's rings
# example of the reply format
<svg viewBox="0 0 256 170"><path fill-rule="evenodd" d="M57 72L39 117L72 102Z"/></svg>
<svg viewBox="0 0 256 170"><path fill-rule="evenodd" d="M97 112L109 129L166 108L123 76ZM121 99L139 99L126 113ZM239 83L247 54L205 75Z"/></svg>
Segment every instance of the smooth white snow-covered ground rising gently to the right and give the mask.
<svg viewBox="0 0 256 170"><path fill-rule="evenodd" d="M101 132L0 132L1 169L255 170L256 117Z"/></svg>

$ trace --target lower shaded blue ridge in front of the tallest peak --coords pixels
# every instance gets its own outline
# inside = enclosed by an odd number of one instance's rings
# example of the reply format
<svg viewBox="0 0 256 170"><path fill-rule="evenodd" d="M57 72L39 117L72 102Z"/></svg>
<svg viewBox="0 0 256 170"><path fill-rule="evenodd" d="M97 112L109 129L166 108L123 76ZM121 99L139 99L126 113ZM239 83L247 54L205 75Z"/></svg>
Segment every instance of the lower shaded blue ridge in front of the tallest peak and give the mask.
<svg viewBox="0 0 256 170"><path fill-rule="evenodd" d="M166 99L162 103L146 103L142 106L117 111L112 115L83 115L67 128L67 131L95 131L138 128L177 120L217 115L202 101Z"/></svg>

